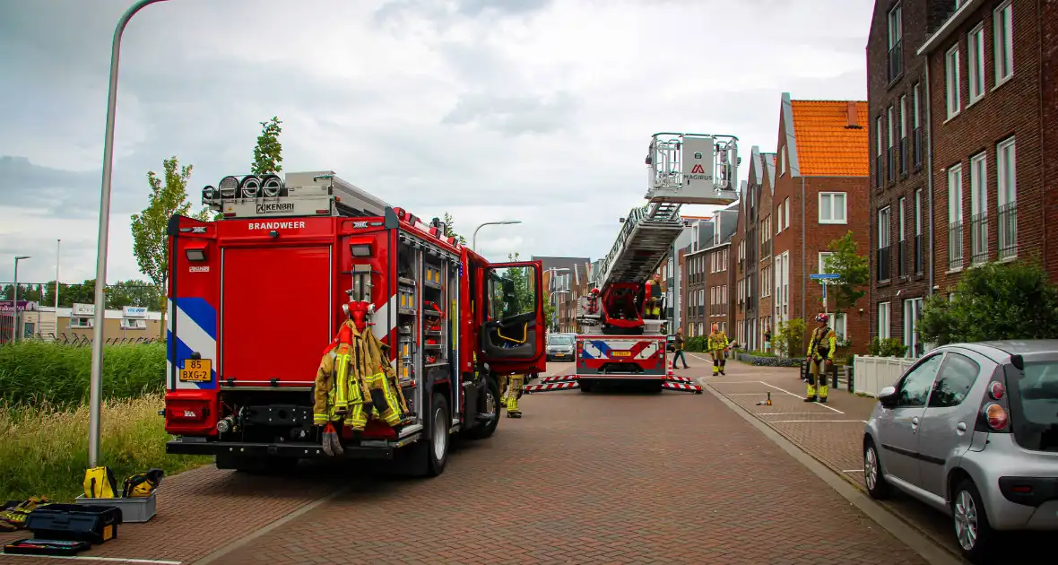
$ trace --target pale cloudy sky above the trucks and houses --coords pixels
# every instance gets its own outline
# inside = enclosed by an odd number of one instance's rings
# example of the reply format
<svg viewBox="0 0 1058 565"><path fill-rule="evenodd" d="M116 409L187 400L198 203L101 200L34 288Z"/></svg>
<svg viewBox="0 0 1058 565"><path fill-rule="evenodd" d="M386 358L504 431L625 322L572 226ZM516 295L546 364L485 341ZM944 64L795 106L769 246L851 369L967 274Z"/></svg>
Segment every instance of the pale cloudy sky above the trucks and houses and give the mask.
<svg viewBox="0 0 1058 565"><path fill-rule="evenodd" d="M0 281L94 276L110 42L131 0L0 0ZM605 255L644 203L657 131L774 150L782 92L865 99L870 0L168 0L123 40L108 280L177 156L188 192L250 168L331 169L490 258ZM745 178L745 167L740 170ZM198 205L198 199L194 198ZM685 207L685 214L709 208Z"/></svg>

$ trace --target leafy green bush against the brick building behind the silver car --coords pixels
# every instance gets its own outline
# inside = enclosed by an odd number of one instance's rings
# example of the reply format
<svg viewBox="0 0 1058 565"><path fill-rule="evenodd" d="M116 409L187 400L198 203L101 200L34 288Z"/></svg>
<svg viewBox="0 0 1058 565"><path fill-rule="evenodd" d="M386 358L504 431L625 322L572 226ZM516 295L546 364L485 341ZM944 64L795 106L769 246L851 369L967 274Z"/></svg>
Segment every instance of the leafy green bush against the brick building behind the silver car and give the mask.
<svg viewBox="0 0 1058 565"><path fill-rule="evenodd" d="M926 299L925 343L1058 338L1058 287L1037 262L986 263L963 273L954 296Z"/></svg>

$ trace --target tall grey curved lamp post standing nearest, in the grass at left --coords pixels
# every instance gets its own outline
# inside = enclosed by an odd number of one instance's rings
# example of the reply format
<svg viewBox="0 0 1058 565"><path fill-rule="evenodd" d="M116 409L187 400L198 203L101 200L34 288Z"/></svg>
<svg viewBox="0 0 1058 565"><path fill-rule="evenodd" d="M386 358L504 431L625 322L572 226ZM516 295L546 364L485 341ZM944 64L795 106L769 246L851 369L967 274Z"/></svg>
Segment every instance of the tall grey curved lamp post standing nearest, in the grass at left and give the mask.
<svg viewBox="0 0 1058 565"><path fill-rule="evenodd" d="M122 34L132 16L145 6L165 0L139 0L117 20L110 45L110 89L107 93L107 129L103 139L103 186L99 195L99 235L95 258L95 316L92 335L92 377L88 389L88 467L98 467L99 412L103 403L103 326L106 320L107 239L110 235L110 172L114 164L114 113L117 107L117 63Z"/></svg>

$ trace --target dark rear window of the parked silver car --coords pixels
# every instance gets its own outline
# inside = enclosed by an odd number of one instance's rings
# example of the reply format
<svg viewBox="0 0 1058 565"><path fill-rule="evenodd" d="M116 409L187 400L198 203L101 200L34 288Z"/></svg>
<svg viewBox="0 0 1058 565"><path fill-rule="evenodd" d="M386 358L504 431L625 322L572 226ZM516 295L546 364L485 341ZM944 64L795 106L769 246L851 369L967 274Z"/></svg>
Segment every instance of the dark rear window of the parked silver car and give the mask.
<svg viewBox="0 0 1058 565"><path fill-rule="evenodd" d="M1018 444L1026 450L1058 452L1058 361L1010 367L1010 423Z"/></svg>

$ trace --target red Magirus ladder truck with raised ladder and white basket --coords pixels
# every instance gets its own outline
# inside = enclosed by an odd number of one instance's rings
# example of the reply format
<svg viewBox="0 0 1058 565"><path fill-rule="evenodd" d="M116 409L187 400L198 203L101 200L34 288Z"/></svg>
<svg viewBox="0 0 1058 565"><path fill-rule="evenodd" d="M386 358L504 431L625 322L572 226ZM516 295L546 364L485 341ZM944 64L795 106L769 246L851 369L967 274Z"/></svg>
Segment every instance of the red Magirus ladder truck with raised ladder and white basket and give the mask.
<svg viewBox="0 0 1058 565"><path fill-rule="evenodd" d="M647 282L669 257L686 223L683 204L727 205L738 199L737 138L656 133L646 154L647 203L635 207L596 273L596 288L578 299L577 372L545 377L527 393L580 388L603 382L638 382L662 389L701 393L688 377L668 370L665 328L651 315ZM651 289L654 290L654 289ZM663 297L662 297L663 303Z"/></svg>

